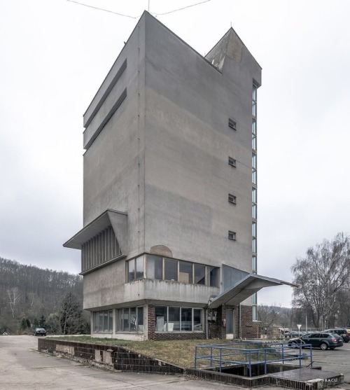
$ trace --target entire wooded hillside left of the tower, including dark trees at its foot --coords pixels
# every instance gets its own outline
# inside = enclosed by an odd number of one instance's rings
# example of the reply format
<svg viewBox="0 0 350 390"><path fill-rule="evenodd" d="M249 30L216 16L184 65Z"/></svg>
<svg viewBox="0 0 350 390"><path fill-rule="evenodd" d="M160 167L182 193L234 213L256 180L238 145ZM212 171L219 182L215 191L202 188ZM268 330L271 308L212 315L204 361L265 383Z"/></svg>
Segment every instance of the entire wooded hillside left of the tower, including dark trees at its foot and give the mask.
<svg viewBox="0 0 350 390"><path fill-rule="evenodd" d="M64 319L62 307L67 301L75 308L74 321ZM44 326L52 333L63 333L62 329L64 333L75 333L79 326L80 331L85 331L81 329L82 301L80 275L0 258L0 333L29 333L33 326ZM79 326L73 326L77 319Z"/></svg>

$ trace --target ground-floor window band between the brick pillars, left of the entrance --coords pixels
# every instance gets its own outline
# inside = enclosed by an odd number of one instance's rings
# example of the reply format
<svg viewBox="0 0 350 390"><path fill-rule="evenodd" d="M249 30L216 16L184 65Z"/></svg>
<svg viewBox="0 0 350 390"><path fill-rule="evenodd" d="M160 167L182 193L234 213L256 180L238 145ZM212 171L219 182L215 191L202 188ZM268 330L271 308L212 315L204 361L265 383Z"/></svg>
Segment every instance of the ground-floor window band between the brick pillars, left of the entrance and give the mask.
<svg viewBox="0 0 350 390"><path fill-rule="evenodd" d="M155 307L156 332L203 331L203 309L193 307Z"/></svg>

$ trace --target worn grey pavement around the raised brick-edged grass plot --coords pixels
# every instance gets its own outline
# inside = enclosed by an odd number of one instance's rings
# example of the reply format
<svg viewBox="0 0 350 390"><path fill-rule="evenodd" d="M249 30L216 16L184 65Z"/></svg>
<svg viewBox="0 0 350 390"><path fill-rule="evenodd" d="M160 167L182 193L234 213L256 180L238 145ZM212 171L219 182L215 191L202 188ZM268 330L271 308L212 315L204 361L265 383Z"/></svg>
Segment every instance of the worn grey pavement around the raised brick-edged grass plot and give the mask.
<svg viewBox="0 0 350 390"><path fill-rule="evenodd" d="M181 375L135 374L111 372L57 358L37 351L38 337L0 336L1 390L76 390L76 389L232 389L232 386L191 379ZM337 388L350 389L350 342L334 350L313 350L314 364L323 370L341 372L345 384ZM234 386L239 389L238 386ZM264 390L278 389L264 386Z"/></svg>

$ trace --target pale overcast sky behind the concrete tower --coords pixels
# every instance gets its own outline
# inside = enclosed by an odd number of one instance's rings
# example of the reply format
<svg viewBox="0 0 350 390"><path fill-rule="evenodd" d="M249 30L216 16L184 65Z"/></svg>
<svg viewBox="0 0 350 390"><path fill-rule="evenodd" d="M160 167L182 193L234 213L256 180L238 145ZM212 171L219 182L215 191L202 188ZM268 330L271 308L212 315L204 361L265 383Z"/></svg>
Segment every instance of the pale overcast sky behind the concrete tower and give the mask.
<svg viewBox="0 0 350 390"><path fill-rule="evenodd" d="M198 0L200 1L200 0ZM197 0L0 0L0 256L80 272L82 116L138 17ZM158 15L205 55L232 26L262 67L258 273L292 280L309 246L348 233L350 1L211 0ZM292 289L260 303L290 305Z"/></svg>

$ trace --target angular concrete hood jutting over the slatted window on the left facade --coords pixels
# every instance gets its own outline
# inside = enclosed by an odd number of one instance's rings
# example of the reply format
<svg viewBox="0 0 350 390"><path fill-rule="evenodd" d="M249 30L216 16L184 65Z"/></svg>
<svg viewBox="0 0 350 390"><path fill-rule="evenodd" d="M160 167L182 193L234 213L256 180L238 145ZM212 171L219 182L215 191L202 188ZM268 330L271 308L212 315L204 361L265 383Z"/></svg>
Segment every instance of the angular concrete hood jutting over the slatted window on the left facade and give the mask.
<svg viewBox="0 0 350 390"><path fill-rule="evenodd" d="M73 235L63 246L65 248L81 249L85 242L109 226L113 228L120 251L127 253L127 214L112 209L104 211L104 213L86 225L76 235Z"/></svg>

